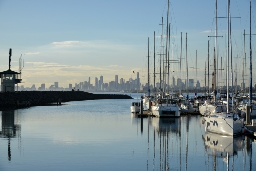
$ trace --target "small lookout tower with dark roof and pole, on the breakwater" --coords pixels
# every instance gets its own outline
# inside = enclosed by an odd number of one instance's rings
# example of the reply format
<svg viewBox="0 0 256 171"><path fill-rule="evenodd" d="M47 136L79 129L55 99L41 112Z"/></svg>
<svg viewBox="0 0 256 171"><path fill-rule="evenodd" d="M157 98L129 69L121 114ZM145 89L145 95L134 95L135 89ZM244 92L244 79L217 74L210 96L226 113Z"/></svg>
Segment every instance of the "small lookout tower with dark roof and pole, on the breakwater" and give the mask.
<svg viewBox="0 0 256 171"><path fill-rule="evenodd" d="M1 91L2 92L14 92L15 84L22 83L22 73L12 71L11 67L12 49L9 49L9 70L0 72L1 78Z"/></svg>

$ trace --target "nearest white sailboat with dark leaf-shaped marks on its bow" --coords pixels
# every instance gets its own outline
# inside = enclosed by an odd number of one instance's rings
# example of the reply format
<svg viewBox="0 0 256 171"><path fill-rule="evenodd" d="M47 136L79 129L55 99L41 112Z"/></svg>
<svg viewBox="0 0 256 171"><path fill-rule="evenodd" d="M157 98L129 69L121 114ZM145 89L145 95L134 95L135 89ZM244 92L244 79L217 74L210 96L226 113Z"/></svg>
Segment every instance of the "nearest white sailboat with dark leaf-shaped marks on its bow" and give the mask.
<svg viewBox="0 0 256 171"><path fill-rule="evenodd" d="M216 1L217 2L217 1ZM230 0L228 0L228 48L227 48L227 66L229 68L229 41L230 41L230 52L231 52L231 80L232 80L232 96L233 96L233 67L232 67L232 39L231 39L231 18L230 18ZM229 32L230 29L230 32ZM230 35L230 40L229 40ZM229 69L228 69L229 70ZM229 73L227 72L227 87ZM227 94L229 90L227 89ZM233 98L232 98L233 100ZM206 130L218 134L225 135L237 135L241 133L244 119L239 118L237 112L229 107L229 97L227 96L227 101L223 101L223 104L217 105L206 120ZM233 105L233 103L232 103ZM230 109L229 109L230 108Z"/></svg>

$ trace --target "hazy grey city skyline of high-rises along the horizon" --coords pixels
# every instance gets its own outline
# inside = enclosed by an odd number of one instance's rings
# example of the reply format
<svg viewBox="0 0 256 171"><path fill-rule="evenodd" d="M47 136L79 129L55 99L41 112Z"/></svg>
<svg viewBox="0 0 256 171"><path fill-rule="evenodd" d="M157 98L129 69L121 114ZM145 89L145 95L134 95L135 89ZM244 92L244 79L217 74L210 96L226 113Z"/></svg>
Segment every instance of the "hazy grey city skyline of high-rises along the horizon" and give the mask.
<svg viewBox="0 0 256 171"><path fill-rule="evenodd" d="M136 73L137 78L139 78L139 73ZM33 84L31 87L24 87L24 85L20 85L18 86L18 91L34 91L34 90L38 90L38 91L71 91L72 89L74 90L80 90L80 91L136 91L136 90L140 90L140 91L148 91L148 87L150 87L150 90L153 92L154 91L154 85L150 84L150 86L148 86L148 83L141 83L140 79L137 80L133 79L133 78L129 78L129 81L120 78L120 83L118 80L118 75L115 75L115 81L110 81L108 83L104 83L103 82L103 76L100 76L100 79L98 79L97 77L95 77L95 82L91 84L91 77L88 78L88 81L82 81L79 83L75 83L75 84L69 84L68 87L59 87L59 83L58 82L54 82L53 84L51 84L49 87L45 86L45 83L42 83L40 87L36 87L35 84ZM176 81L175 81L176 80ZM186 92L186 78L182 79L180 82L180 78L175 79L173 77L173 84L169 84L169 92ZM138 83L139 82L139 83ZM179 85L181 83L181 85ZM164 84L164 81L161 81L161 84ZM166 85L166 91L167 91L167 83ZM211 84L210 84L211 86ZM159 90L160 87L160 82L156 82L156 89ZM163 87L163 86L162 86ZM245 83L241 83L241 84L237 84L234 85L235 90L238 91L242 91L242 89L244 89L244 91L248 91L249 88L248 86L246 86ZM217 91L218 92L223 92L227 89L226 85L217 85L216 86ZM231 86L229 85L229 88L231 89ZM253 90L256 89L256 84L253 85ZM188 90L189 91L198 91L198 92L204 92L206 90L208 90L208 85L206 85L206 87L204 86L204 84L201 84L199 80L195 80L194 79L188 79ZM210 92L212 91L212 87L210 87Z"/></svg>

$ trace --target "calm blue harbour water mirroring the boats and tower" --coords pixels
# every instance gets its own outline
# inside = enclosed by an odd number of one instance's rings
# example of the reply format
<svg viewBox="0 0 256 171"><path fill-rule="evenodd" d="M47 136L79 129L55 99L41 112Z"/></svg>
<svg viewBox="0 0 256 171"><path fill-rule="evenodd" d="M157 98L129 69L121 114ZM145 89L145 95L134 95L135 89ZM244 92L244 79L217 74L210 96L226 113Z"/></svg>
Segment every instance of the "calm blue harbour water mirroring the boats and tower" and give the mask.
<svg viewBox="0 0 256 171"><path fill-rule="evenodd" d="M2 111L0 170L256 169L253 139L205 133L200 116L141 120L132 101Z"/></svg>

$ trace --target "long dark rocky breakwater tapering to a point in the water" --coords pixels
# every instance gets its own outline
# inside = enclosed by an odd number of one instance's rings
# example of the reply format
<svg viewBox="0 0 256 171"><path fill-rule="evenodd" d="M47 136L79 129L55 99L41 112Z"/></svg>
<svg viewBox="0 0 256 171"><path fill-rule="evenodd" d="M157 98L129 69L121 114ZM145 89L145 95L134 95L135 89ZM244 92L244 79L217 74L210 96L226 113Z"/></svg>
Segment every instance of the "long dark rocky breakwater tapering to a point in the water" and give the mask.
<svg viewBox="0 0 256 171"><path fill-rule="evenodd" d="M19 91L0 93L0 110L15 109L17 102L26 103L26 106L44 106L57 103L57 98L61 102L99 100L99 99L132 99L128 95L122 94L93 94L83 91ZM22 108L25 105L18 105ZM25 107L26 107L25 106Z"/></svg>

